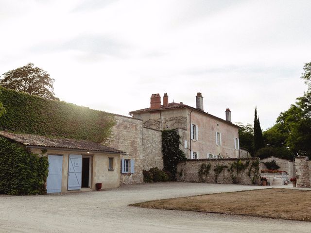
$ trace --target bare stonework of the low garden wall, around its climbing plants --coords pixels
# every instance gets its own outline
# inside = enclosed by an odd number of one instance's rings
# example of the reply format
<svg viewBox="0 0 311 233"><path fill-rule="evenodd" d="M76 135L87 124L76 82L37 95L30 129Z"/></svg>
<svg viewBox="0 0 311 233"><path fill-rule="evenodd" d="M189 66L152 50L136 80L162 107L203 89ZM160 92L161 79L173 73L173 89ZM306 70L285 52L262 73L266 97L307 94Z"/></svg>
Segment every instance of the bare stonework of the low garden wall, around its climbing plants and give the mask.
<svg viewBox="0 0 311 233"><path fill-rule="evenodd" d="M179 182L196 182L196 183L216 183L214 168L217 165L226 166L223 171L218 175L217 183L233 183L231 178L231 173L228 168L231 167L232 163L241 160L243 164L249 161L249 166L237 177L238 183L250 185L252 184L253 172L251 177L248 176L248 170L252 162L256 162L257 158L251 159L188 159L186 161L180 162L177 165L176 178ZM207 175L203 175L202 178L199 176L199 171L202 164L210 164L210 170ZM253 169L252 169L253 170ZM236 174L235 172L233 173ZM259 173L258 173L259 176ZM259 183L259 179L256 179L256 183Z"/></svg>

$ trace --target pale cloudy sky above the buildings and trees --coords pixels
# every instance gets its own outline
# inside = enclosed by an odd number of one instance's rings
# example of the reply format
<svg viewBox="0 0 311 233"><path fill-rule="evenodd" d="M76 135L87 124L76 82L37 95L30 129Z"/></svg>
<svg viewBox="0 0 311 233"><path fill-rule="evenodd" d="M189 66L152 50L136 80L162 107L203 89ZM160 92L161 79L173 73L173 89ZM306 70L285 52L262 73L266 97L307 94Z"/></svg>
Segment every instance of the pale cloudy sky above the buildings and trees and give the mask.
<svg viewBox="0 0 311 233"><path fill-rule="evenodd" d="M128 116L152 94L274 125L307 86L310 0L1 0L0 75L34 63L60 100ZM162 100L163 101L163 100Z"/></svg>

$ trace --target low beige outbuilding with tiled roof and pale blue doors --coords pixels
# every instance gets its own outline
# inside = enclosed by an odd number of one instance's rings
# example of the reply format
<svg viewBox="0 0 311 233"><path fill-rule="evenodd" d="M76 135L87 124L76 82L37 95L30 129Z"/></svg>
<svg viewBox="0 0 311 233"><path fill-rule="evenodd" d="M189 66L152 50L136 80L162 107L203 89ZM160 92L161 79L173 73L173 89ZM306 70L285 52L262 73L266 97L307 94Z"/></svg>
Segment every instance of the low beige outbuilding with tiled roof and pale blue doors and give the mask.
<svg viewBox="0 0 311 233"><path fill-rule="evenodd" d="M120 185L121 166L124 171L134 172L134 162L121 159L120 163L120 155L125 152L99 143L5 131L0 131L0 136L48 157L48 193L91 191L96 183L102 183L102 188L115 188ZM132 168L126 167L130 164Z"/></svg>

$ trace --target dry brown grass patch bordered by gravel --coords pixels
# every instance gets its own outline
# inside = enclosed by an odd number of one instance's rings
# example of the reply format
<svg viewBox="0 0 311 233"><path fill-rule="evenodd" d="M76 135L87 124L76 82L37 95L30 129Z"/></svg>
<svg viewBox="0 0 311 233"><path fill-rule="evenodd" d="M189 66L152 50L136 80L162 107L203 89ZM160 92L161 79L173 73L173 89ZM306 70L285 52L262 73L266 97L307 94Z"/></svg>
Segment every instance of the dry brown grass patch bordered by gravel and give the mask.
<svg viewBox="0 0 311 233"><path fill-rule="evenodd" d="M132 206L311 221L311 191L282 188L153 200Z"/></svg>

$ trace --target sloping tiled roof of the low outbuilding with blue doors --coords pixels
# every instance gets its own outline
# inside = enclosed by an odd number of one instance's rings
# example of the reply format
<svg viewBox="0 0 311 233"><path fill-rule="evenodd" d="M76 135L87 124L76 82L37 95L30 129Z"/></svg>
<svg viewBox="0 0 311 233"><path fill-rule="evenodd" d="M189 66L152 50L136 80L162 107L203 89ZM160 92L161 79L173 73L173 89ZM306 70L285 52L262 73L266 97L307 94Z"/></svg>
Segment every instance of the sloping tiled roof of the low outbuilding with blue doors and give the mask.
<svg viewBox="0 0 311 233"><path fill-rule="evenodd" d="M13 141L19 142L29 147L46 147L55 149L72 149L72 150L89 150L98 152L112 152L112 153L125 153L121 150L117 150L111 147L106 147L100 143L67 139L67 138L49 138L35 134L17 134L9 133L6 131L0 131L0 136L9 138Z"/></svg>

